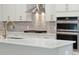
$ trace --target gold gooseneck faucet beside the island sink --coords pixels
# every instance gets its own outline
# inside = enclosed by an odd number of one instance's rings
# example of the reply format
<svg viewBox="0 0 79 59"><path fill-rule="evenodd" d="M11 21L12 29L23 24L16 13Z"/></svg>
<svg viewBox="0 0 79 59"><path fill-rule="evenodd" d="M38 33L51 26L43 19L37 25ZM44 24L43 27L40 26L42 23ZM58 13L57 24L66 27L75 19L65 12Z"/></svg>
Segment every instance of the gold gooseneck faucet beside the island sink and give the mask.
<svg viewBox="0 0 79 59"><path fill-rule="evenodd" d="M7 38L7 31L11 29L11 27L15 28L15 23L13 21L3 21L3 26L4 26L4 34L3 37L4 39Z"/></svg>

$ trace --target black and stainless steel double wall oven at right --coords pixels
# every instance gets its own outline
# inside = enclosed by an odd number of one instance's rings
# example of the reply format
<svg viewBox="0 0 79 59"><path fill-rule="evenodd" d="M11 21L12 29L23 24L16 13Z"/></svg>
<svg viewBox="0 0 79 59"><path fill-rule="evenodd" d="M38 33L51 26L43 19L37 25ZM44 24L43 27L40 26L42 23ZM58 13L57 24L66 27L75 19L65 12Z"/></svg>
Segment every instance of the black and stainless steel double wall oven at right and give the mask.
<svg viewBox="0 0 79 59"><path fill-rule="evenodd" d="M57 17L57 39L76 41L73 48L77 49L78 17Z"/></svg>

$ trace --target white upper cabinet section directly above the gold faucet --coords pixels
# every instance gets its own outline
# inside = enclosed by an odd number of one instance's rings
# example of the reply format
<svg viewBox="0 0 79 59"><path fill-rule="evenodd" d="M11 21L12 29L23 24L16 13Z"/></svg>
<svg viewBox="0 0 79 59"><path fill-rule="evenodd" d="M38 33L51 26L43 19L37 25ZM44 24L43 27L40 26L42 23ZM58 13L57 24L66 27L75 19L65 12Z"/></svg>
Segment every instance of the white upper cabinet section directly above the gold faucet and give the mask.
<svg viewBox="0 0 79 59"><path fill-rule="evenodd" d="M2 5L2 20L15 20L15 4Z"/></svg>

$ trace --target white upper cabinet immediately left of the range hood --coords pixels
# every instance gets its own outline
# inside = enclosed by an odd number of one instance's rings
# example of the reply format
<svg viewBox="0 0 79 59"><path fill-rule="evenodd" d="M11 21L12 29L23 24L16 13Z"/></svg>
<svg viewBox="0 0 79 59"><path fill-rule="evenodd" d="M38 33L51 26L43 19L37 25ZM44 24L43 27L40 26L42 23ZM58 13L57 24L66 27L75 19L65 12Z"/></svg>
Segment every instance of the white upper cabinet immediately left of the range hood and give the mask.
<svg viewBox="0 0 79 59"><path fill-rule="evenodd" d="M28 4L16 4L16 21L32 21L32 14L27 13Z"/></svg>

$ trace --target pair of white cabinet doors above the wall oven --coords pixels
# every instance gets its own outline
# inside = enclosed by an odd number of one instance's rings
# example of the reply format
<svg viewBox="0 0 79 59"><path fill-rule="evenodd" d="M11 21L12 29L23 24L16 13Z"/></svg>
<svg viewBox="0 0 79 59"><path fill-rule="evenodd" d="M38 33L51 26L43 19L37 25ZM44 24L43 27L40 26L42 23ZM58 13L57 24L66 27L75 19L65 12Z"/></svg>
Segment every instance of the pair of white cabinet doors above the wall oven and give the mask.
<svg viewBox="0 0 79 59"><path fill-rule="evenodd" d="M79 11L79 4L56 4L56 11Z"/></svg>

